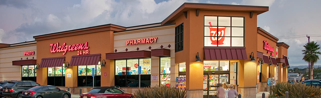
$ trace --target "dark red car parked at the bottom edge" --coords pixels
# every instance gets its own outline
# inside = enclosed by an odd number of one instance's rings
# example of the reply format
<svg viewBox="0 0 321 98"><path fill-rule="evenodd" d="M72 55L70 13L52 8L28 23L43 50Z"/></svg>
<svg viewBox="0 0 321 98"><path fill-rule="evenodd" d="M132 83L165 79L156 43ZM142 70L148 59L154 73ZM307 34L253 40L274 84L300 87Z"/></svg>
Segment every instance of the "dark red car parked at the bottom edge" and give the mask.
<svg viewBox="0 0 321 98"><path fill-rule="evenodd" d="M134 94L126 93L115 87L97 87L88 93L80 94L79 98L135 98Z"/></svg>

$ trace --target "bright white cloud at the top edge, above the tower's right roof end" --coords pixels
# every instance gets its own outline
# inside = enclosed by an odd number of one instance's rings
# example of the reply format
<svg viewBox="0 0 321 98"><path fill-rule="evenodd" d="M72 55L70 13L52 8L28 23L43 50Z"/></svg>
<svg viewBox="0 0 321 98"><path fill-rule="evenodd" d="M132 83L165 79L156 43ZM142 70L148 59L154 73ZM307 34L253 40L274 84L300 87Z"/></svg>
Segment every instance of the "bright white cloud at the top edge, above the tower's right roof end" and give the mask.
<svg viewBox="0 0 321 98"><path fill-rule="evenodd" d="M242 0L242 5L271 6L275 0Z"/></svg>

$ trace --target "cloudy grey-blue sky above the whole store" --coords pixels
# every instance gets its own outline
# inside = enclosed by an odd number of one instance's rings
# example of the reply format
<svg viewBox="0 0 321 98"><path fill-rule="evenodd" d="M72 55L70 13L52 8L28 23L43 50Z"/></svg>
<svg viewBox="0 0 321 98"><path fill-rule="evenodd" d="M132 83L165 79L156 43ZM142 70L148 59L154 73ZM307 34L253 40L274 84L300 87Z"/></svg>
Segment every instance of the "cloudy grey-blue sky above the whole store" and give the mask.
<svg viewBox="0 0 321 98"><path fill-rule="evenodd" d="M269 6L257 26L290 45L290 66L308 65L301 54L307 34L321 44L321 0L0 0L0 43L102 24L159 23L184 2Z"/></svg>

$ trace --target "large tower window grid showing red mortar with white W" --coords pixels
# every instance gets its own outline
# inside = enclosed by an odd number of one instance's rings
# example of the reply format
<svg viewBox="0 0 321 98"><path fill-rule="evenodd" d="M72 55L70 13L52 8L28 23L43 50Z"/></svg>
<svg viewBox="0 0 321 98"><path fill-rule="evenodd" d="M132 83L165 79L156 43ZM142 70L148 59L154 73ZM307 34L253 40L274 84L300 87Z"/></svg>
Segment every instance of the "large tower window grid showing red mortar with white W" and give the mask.
<svg viewBox="0 0 321 98"><path fill-rule="evenodd" d="M204 16L204 46L244 46L244 17Z"/></svg>

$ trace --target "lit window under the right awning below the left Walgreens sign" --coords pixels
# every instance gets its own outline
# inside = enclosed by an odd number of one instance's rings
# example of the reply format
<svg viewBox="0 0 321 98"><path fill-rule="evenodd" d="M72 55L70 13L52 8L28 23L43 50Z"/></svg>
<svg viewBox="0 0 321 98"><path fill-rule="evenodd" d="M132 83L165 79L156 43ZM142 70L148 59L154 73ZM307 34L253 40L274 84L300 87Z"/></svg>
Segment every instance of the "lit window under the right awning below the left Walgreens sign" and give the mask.
<svg viewBox="0 0 321 98"><path fill-rule="evenodd" d="M94 69L94 81L92 80L92 69ZM101 67L100 62L98 65L78 66L78 86L79 87L92 87L100 86Z"/></svg>

